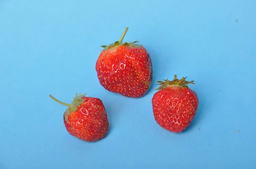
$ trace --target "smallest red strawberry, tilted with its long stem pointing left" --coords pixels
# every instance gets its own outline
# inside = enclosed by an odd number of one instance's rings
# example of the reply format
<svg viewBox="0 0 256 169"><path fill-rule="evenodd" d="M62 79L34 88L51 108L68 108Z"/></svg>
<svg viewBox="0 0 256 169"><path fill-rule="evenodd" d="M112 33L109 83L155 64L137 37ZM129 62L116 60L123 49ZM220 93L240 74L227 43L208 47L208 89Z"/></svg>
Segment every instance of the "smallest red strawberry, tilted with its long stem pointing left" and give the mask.
<svg viewBox="0 0 256 169"><path fill-rule="evenodd" d="M70 135L88 142L105 138L109 123L105 107L100 99L85 97L85 94L76 94L72 104L67 104L49 96L68 107L64 113L64 124Z"/></svg>

